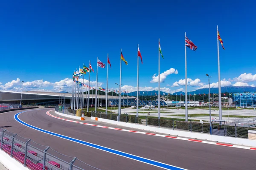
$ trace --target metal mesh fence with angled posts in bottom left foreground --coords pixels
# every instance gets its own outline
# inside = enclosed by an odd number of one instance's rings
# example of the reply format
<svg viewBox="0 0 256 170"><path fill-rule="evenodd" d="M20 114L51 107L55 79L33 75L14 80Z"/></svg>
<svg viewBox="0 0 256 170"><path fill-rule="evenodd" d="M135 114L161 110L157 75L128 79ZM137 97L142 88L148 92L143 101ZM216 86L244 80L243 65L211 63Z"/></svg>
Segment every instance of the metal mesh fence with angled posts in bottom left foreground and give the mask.
<svg viewBox="0 0 256 170"><path fill-rule="evenodd" d="M0 149L30 170L99 170L76 157L0 128Z"/></svg>

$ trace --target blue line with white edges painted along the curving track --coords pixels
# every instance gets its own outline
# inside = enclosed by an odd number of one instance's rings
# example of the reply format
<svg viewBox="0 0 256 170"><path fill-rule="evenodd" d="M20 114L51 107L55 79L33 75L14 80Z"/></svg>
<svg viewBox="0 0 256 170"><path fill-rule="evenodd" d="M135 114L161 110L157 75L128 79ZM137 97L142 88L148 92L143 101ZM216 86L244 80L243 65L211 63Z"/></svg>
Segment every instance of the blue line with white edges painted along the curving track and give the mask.
<svg viewBox="0 0 256 170"><path fill-rule="evenodd" d="M35 111L35 110L30 110L30 111ZM22 120L19 119L19 114L24 113L24 112L27 112L27 111L23 111L23 112L19 112L19 113L15 114L15 116L14 116L15 120L17 122L21 123L22 125L25 125L25 126L30 127L32 129L38 130L40 132L47 133L49 135L56 136L56 137L59 137L59 138L62 138L62 139L67 139L69 141L76 142L76 143L79 143L79 144L84 144L86 146L93 147L93 148L96 148L96 149L99 149L99 150L103 150L103 151L108 152L108 153L113 153L113 154L116 154L116 155L119 155L119 156L123 156L123 157L128 158L128 159L133 159L135 161L140 161L140 162L143 162L145 164L151 164L153 166L160 167L160 168L163 168L163 169L166 169L166 170L186 170L186 169L183 169L183 168L180 168L180 167L175 167L175 166L172 166L172 165L169 165L169 164L164 164L162 162L154 161L154 160L151 160L151 159L146 159L146 158L143 158L143 157L140 157L140 156L135 156L135 155L125 153L125 152L121 152L121 151L118 151L118 150L114 150L114 149L111 149L111 148L108 148L108 147L103 147L103 146L100 146L100 145L97 145L97 144L92 144L90 142L81 141L79 139L74 139L74 138L71 138L71 137L68 137L68 136L64 136L64 135L61 135L61 134L58 134L58 133L53 133L51 131L44 130L44 129L29 125L26 122L23 122Z"/></svg>

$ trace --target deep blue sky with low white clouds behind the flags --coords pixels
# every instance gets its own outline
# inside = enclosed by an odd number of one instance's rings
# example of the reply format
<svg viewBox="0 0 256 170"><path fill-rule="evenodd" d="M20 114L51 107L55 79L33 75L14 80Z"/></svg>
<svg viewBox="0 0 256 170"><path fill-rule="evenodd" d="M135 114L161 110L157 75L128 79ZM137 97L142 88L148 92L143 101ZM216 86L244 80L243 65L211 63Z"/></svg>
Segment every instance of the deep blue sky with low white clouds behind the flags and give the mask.
<svg viewBox="0 0 256 170"><path fill-rule="evenodd" d="M17 0L4 1L0 10L1 67L0 89L56 91L70 89L72 73L89 60L96 71L97 57L107 63L109 88L119 82L120 48L128 65L122 62L122 84L133 91L137 86L137 44L143 57L140 87L153 90L158 72L158 38L165 59L160 72L166 74L163 91L184 89L184 32L198 46L187 48L188 78L193 91L218 82L216 25L224 41L220 46L221 85L256 85L254 42L256 2L230 1L83 1ZM246 74L244 74L246 73ZM157 76L157 75L156 75ZM239 77L240 76L240 77ZM68 79L69 78L69 79ZM88 76L85 76L88 79ZM199 80L200 81L199 81ZM15 81L13 81L15 80ZM96 73L91 74L96 81ZM12 82L13 81L13 82ZM9 83L8 83L9 82ZM72 82L72 81L71 81ZM99 68L99 82L106 86L106 69ZM176 83L175 83L176 82ZM190 83L189 82L189 83ZM93 82L92 82L93 84Z"/></svg>

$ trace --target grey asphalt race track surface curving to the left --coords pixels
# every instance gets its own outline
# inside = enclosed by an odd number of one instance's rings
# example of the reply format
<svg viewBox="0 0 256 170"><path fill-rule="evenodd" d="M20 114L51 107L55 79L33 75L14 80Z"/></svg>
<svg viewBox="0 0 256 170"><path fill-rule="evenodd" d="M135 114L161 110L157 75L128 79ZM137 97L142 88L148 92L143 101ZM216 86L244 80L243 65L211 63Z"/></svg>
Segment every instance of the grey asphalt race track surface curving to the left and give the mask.
<svg viewBox="0 0 256 170"><path fill-rule="evenodd" d="M37 109L21 113L19 118L29 125L69 136L85 142L130 153L189 170L241 170L255 169L255 150L231 148L212 144L167 139L158 136L129 133L55 119L46 114L52 109ZM102 170L162 170L122 156L61 139L26 127L14 119L20 111L0 114L0 127L50 146L68 156ZM50 112L54 114L54 111ZM86 121L85 121L86 122ZM97 123L94 123L97 125ZM99 124L99 123L98 123ZM102 125L102 124L101 124ZM111 127L118 127L111 125ZM125 127L125 129L129 129Z"/></svg>

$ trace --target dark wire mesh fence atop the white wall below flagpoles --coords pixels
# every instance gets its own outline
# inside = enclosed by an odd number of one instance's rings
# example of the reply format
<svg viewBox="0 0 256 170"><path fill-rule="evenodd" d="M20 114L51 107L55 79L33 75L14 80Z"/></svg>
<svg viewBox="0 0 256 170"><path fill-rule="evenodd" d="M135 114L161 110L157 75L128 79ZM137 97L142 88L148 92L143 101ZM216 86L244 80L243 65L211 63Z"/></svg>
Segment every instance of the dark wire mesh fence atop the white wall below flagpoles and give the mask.
<svg viewBox="0 0 256 170"><path fill-rule="evenodd" d="M118 121L118 115L116 113L105 113L105 112L91 112L91 116L99 117L102 119L109 119ZM255 127L240 127L236 124L232 125L224 125L220 123L213 123L212 127L210 128L209 123L200 123L200 122L192 122L192 121L178 121L175 119L158 119L152 118L150 116L139 116L136 115L128 115L128 114L121 114L120 115L120 122L127 122L127 123L135 123L141 124L146 126L156 126L156 127L165 127L171 128L172 130L186 130L190 132L198 132L198 133L210 133L210 129L212 130L212 135L218 136L230 136L236 138L247 138L248 130L256 130Z"/></svg>

